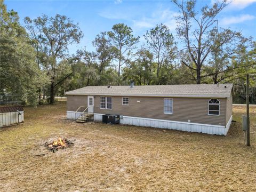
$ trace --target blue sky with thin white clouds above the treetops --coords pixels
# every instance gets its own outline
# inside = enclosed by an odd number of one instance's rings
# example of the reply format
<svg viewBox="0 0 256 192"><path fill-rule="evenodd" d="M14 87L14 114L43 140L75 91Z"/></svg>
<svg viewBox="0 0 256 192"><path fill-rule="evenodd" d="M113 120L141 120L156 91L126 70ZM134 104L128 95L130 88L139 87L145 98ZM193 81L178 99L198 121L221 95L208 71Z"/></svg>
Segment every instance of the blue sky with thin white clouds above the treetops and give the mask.
<svg viewBox="0 0 256 192"><path fill-rule="evenodd" d="M198 1L197 9L212 1ZM34 19L43 13L49 16L55 14L67 15L84 33L81 43L71 45L69 53L86 46L93 51L91 42L101 31L111 30L116 23L125 23L133 29L134 35L143 36L146 30L157 23L167 25L173 35L176 35L174 16L178 14L171 1L5 1L7 10L17 11L20 22L25 17ZM242 30L244 36L256 37L256 0L234 0L218 17L219 26ZM179 39L175 36L175 41ZM143 43L143 37L141 38Z"/></svg>

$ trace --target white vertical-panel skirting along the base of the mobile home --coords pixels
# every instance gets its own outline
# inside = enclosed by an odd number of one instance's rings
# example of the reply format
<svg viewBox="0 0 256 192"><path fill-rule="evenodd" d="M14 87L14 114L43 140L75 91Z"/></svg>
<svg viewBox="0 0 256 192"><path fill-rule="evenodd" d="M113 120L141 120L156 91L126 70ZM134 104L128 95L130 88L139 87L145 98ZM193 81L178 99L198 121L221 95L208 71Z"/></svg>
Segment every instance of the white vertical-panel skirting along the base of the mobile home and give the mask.
<svg viewBox="0 0 256 192"><path fill-rule="evenodd" d="M103 114L94 113L94 121L102 121L102 115ZM75 112L67 111L67 118L75 119ZM231 121L232 121L232 116L230 117L226 126L220 126L220 125L176 122L176 121L168 121L168 120L162 120L162 119L150 119L150 118L129 117L129 116L123 116L123 118L120 118L121 124L147 126L147 127L161 128L161 129L172 129L172 130L207 133L207 134L217 134L217 135L227 135Z"/></svg>

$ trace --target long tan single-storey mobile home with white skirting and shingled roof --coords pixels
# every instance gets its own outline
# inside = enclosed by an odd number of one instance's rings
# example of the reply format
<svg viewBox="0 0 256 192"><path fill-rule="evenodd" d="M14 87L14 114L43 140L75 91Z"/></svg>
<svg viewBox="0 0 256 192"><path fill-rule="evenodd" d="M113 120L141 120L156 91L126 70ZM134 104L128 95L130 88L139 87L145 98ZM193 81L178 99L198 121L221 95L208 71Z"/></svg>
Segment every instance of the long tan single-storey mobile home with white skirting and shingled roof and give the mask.
<svg viewBox="0 0 256 192"><path fill-rule="evenodd" d="M67 92L67 118L118 114L121 124L226 135L232 84L87 86Z"/></svg>

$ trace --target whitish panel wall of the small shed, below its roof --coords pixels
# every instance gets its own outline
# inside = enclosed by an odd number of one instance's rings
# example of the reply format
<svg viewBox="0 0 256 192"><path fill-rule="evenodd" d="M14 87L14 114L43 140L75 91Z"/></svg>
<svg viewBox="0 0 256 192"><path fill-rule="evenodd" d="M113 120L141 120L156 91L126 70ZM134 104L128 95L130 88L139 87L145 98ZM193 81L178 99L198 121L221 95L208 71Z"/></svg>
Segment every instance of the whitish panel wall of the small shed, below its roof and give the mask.
<svg viewBox="0 0 256 192"><path fill-rule="evenodd" d="M0 113L0 127L24 122L24 113L20 112L21 115L18 115L18 112Z"/></svg>

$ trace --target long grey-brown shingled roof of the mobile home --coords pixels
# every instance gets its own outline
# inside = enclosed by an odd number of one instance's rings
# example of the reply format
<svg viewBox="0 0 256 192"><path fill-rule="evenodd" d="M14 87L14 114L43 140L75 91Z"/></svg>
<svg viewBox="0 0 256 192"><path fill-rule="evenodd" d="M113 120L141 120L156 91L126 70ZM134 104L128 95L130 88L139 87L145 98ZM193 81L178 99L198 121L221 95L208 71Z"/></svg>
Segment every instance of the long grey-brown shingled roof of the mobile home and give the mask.
<svg viewBox="0 0 256 192"><path fill-rule="evenodd" d="M233 84L87 86L67 95L113 95L136 97L229 98Z"/></svg>

